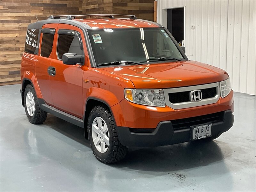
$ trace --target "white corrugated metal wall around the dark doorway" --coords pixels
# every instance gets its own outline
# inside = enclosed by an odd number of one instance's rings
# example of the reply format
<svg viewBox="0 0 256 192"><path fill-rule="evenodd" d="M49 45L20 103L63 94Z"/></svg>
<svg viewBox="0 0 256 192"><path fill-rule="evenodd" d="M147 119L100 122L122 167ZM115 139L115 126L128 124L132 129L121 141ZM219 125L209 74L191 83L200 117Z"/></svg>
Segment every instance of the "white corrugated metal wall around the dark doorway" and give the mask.
<svg viewBox="0 0 256 192"><path fill-rule="evenodd" d="M234 91L256 95L256 1L157 0L158 23L167 27L167 9L178 7L188 58L226 70Z"/></svg>

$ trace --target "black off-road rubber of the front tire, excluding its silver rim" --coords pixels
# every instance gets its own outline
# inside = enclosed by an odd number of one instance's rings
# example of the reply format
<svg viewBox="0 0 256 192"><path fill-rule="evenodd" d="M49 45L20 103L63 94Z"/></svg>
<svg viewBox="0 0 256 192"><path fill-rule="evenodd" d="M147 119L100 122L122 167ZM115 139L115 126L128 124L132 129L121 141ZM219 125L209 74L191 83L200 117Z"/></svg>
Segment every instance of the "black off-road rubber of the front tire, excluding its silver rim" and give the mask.
<svg viewBox="0 0 256 192"><path fill-rule="evenodd" d="M95 147L92 140L92 123L96 117L101 117L108 126L109 146L105 153L101 153ZM126 155L127 148L118 140L116 124L109 109L105 106L96 106L92 108L88 118L88 138L94 156L102 163L111 164L123 159Z"/></svg>

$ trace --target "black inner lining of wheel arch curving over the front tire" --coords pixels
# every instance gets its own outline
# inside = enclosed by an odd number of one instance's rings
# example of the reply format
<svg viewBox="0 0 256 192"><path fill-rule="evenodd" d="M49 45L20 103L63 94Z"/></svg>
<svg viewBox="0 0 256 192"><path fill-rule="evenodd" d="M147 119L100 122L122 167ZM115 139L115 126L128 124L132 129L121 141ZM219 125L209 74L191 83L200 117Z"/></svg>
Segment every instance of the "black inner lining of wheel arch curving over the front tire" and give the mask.
<svg viewBox="0 0 256 192"><path fill-rule="evenodd" d="M113 119L115 122L115 117L112 113L110 106L108 105L108 103L106 101L101 100L99 98L95 98L95 97L88 97L86 100L86 103L85 103L85 111L84 111L84 137L87 140L88 140L88 132L87 132L88 117L90 115L92 108L94 108L95 106L98 106L98 105L103 105L103 106L107 107L109 109L111 115L113 116Z"/></svg>

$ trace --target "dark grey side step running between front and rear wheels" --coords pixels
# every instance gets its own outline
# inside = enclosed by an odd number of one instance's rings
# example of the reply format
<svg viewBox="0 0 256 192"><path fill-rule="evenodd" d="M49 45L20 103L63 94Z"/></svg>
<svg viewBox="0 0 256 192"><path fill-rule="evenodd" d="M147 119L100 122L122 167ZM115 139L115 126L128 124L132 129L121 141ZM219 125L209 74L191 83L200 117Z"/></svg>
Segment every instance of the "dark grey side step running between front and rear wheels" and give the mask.
<svg viewBox="0 0 256 192"><path fill-rule="evenodd" d="M47 113L51 113L52 115L59 117L65 121L68 121L69 123L75 124L79 127L84 128L84 121L83 119L79 119L76 116L70 115L68 113L65 113L63 111L60 111L59 109L56 109L54 107L51 107L47 104L41 104L40 107L42 110L44 110Z"/></svg>

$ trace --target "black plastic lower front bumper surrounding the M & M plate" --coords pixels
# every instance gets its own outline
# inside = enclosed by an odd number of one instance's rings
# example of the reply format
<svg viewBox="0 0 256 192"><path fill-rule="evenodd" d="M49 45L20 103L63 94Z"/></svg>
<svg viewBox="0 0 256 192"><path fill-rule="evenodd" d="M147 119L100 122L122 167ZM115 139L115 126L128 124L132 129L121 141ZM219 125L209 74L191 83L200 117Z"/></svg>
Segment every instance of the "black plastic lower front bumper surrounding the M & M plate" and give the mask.
<svg viewBox="0 0 256 192"><path fill-rule="evenodd" d="M212 137L228 131L234 122L231 110L215 115L160 122L153 132L132 132L128 127L116 127L118 138L126 147L155 147L187 142L191 138L190 126L212 123ZM205 117L205 118L204 118ZM150 129L148 129L150 131Z"/></svg>

